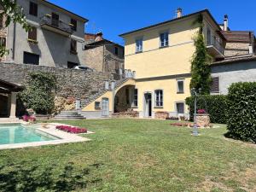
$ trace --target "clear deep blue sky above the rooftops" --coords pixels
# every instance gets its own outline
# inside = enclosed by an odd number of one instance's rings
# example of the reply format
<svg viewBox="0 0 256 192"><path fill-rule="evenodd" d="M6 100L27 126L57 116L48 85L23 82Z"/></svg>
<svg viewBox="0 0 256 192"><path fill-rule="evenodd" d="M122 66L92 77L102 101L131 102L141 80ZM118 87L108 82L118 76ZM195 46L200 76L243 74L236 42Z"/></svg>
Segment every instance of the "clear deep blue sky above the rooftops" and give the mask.
<svg viewBox="0 0 256 192"><path fill-rule="evenodd" d="M255 0L49 0L88 19L85 32L103 32L104 38L124 44L119 34L150 26L175 16L177 8L188 15L209 9L218 23L229 15L234 31L256 32Z"/></svg>

